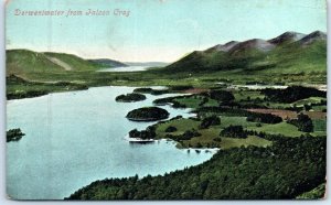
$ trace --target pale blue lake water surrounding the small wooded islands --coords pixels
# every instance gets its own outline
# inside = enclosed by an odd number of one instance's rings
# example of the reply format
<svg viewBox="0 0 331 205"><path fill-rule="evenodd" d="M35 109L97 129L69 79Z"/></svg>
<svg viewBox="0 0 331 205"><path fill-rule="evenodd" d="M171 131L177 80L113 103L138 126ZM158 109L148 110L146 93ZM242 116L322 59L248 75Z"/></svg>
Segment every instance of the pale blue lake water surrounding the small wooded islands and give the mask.
<svg viewBox="0 0 331 205"><path fill-rule="evenodd" d="M7 193L19 199L62 199L96 180L138 174L158 175L209 160L214 152L188 153L164 140L129 143L125 136L153 122L134 122L128 111L151 106L151 96L139 102L116 102L132 87L98 87L10 100L7 129L26 134L7 143ZM170 118L190 117L188 109L164 106Z"/></svg>

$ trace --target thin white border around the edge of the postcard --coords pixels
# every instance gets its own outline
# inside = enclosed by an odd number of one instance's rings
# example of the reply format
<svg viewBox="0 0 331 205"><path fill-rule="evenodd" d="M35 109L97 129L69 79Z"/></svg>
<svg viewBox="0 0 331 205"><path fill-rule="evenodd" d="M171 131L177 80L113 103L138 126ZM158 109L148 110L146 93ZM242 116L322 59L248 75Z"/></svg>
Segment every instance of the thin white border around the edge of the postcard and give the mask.
<svg viewBox="0 0 331 205"><path fill-rule="evenodd" d="M28 1L28 0L26 0ZM331 65L331 56L330 56L330 51L331 51L331 15L330 15L330 8L331 8L331 0L325 0L328 1L328 71L330 69ZM2 0L1 2L1 8L0 8L0 204L1 205L17 205L17 204L28 204L28 205L35 205L35 204L98 204L98 205L109 205L109 204L124 204L124 205L129 205L129 204L151 204L151 205L159 205L159 204L175 204L175 205L182 205L190 203L190 205L202 205L202 204L330 204L331 202L331 196L330 196L330 182L328 183L327 188L327 199L322 201L170 201L170 202L150 202L150 201L129 201L129 202L118 202L118 201L105 201L105 202L67 202L67 201L11 201L7 198L6 194L6 66L4 66L4 60L6 60L6 51L4 51L4 2L6 0ZM297 1L299 3L299 1ZM331 89L330 86L330 72L328 72L328 90ZM328 91L328 99L330 99L330 91ZM328 100L328 118L330 119L330 104L331 101ZM330 127L331 122L328 120L328 175L330 177L330 161L331 161L331 155L330 155Z"/></svg>

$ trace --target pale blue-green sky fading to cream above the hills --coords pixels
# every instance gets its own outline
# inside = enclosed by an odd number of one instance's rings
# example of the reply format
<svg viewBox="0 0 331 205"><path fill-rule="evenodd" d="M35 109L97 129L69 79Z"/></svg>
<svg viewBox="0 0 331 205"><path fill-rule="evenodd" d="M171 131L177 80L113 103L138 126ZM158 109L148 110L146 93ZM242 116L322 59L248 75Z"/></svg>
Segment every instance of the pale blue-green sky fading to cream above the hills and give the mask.
<svg viewBox="0 0 331 205"><path fill-rule="evenodd" d="M325 4L324 0L8 0L6 44L7 50L84 58L174 62L228 41L268 40L286 31L327 32ZM88 9L109 14L85 15ZM15 15L17 10L64 14ZM83 15L66 17L68 10Z"/></svg>

